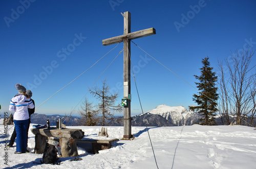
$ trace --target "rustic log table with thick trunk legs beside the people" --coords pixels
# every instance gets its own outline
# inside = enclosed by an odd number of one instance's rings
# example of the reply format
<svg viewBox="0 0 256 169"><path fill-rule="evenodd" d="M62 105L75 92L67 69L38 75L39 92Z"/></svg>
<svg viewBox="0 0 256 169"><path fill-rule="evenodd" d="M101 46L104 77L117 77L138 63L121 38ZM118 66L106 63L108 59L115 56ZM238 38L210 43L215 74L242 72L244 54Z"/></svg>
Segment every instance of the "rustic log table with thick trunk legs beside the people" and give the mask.
<svg viewBox="0 0 256 169"><path fill-rule="evenodd" d="M49 137L59 138L61 147L61 157L77 157L76 140L80 140L84 136L81 129L56 129L51 128L33 128L32 133L35 134L35 154L43 154L46 147L46 140Z"/></svg>

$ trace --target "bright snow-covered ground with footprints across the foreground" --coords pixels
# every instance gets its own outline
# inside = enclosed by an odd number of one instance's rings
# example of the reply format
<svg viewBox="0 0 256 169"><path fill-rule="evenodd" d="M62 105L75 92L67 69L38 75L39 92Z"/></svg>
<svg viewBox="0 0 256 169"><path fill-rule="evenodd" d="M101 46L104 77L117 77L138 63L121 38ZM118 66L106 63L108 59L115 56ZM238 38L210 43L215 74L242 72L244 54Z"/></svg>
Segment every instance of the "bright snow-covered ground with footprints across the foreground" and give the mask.
<svg viewBox="0 0 256 169"><path fill-rule="evenodd" d="M3 120L3 119L1 119ZM119 140L112 148L90 154L78 147L81 161L60 158L60 165L36 164L42 154L34 154L34 135L29 132L31 153L14 154L5 149L13 128L5 137L0 120L0 168L256 168L256 130L245 126L148 127L157 165L145 127L132 127L134 140ZM31 124L32 126L33 124ZM12 128L11 128L12 127ZM79 128L85 137L97 137L101 127ZM107 127L111 138L123 137L123 127ZM15 145L15 144L14 144ZM7 157L7 165L6 157Z"/></svg>

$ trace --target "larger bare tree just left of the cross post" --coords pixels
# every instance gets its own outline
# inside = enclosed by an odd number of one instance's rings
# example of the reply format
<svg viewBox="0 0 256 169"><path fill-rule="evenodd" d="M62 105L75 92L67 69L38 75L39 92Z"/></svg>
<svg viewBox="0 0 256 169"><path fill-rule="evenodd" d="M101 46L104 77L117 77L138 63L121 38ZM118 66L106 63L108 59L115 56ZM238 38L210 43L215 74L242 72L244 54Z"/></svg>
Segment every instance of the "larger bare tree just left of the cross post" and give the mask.
<svg viewBox="0 0 256 169"><path fill-rule="evenodd" d="M118 99L118 92L110 92L110 86L106 84L106 79L102 81L102 87L94 87L90 89L91 94L99 101L98 112L101 113L101 124L105 125L105 119L113 117L113 111L120 112L122 110L121 105L115 105Z"/></svg>

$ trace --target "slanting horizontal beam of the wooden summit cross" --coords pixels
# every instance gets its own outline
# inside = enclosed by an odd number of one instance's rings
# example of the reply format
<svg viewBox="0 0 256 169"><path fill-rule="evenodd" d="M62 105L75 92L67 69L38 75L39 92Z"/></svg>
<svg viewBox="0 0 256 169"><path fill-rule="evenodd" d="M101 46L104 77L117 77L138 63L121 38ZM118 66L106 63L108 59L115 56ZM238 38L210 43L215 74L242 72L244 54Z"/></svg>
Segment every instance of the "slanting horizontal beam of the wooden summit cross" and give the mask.
<svg viewBox="0 0 256 169"><path fill-rule="evenodd" d="M145 36L150 36L155 34L156 34L156 30L154 28L148 28L141 31L127 33L127 34L116 36L113 38L104 39L102 40L102 45L107 46L107 45L122 42L124 39L132 40L132 39L142 38Z"/></svg>

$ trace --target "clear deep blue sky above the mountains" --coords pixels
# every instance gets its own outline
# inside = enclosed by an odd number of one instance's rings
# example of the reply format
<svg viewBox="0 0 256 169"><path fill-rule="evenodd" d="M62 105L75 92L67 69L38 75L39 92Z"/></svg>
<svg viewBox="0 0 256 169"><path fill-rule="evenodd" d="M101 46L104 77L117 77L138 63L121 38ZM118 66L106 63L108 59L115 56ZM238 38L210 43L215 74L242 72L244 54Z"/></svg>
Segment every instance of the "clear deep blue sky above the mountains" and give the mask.
<svg viewBox="0 0 256 169"><path fill-rule="evenodd" d="M144 51L195 86L202 58L217 71L218 59L256 48L256 1L1 1L0 104L8 111L16 83L33 92L36 107L74 80L116 44L102 39L123 34L123 16L132 16L132 32L155 28L156 35L134 39ZM36 109L42 114L69 114L103 70L121 51L115 50ZM144 112L158 105L195 104L197 90L131 44L132 64ZM255 56L252 63L255 63ZM99 78L123 96L123 53ZM141 113L132 81L132 115ZM90 93L86 96L96 101ZM80 107L80 106L78 106ZM77 108L76 108L77 110ZM117 115L122 115L118 113Z"/></svg>

